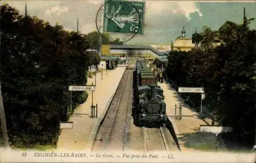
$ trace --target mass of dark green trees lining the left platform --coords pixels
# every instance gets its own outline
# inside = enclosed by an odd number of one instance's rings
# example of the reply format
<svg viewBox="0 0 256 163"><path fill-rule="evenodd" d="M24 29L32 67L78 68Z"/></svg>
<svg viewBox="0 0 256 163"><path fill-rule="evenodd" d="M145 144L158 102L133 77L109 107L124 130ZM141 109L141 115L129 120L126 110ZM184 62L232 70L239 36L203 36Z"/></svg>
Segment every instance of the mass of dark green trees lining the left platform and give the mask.
<svg viewBox="0 0 256 163"><path fill-rule="evenodd" d="M86 36L1 6L1 82L8 137L16 147L56 145L69 85L86 85L92 63ZM87 96L74 92L74 107Z"/></svg>

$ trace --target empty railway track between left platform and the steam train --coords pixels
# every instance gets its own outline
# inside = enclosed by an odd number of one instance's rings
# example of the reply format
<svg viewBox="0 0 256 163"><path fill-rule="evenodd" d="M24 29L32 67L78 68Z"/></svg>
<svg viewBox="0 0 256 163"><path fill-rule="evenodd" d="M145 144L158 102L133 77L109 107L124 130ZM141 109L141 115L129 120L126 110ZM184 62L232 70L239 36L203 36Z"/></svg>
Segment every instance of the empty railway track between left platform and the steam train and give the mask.
<svg viewBox="0 0 256 163"><path fill-rule="evenodd" d="M92 151L124 150L131 115L133 70L126 69L108 112L99 128Z"/></svg>

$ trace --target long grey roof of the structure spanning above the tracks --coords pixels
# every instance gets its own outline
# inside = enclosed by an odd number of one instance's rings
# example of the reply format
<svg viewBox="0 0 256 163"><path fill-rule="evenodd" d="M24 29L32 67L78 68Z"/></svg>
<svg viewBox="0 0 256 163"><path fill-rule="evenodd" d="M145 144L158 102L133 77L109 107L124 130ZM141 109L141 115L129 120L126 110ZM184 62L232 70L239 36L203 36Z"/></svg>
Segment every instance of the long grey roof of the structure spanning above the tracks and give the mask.
<svg viewBox="0 0 256 163"><path fill-rule="evenodd" d="M158 56L167 55L170 50L168 51L159 51L152 47L151 45L110 45L111 49L143 49L143 50L151 50L156 53Z"/></svg>

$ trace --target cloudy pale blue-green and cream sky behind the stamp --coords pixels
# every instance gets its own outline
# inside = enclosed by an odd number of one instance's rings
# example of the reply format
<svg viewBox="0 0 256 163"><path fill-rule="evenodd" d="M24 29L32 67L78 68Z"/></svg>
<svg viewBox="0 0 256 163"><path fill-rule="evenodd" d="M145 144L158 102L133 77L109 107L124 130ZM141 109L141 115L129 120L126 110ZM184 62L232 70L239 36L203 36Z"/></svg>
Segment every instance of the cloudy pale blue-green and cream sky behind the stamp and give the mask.
<svg viewBox="0 0 256 163"><path fill-rule="evenodd" d="M131 0L129 0L131 1ZM137 0L138 1L138 0ZM142 1L142 0L140 0ZM144 35L136 35L126 44L165 44L174 41L181 34L182 26L186 37L191 37L197 28L204 25L218 30L225 21L243 22L243 8L247 18L256 19L256 1L156 1L145 0ZM25 13L26 1L2 1ZM62 0L27 1L28 14L49 21L58 22L65 30L76 31L79 18L79 31L83 34L96 31L96 15L102 0ZM250 24L256 29L256 20ZM112 35L115 38L117 35ZM127 39L130 36L122 36Z"/></svg>

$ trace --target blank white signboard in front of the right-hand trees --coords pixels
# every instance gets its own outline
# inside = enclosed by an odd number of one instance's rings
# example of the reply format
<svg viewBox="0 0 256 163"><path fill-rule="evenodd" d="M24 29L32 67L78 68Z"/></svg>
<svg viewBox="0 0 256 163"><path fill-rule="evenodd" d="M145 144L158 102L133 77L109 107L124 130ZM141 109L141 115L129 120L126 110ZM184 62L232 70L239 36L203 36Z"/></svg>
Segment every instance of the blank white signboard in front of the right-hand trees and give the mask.
<svg viewBox="0 0 256 163"><path fill-rule="evenodd" d="M200 125L200 132L211 132L214 134L219 134L222 132L232 132L232 131L233 131L232 127Z"/></svg>

